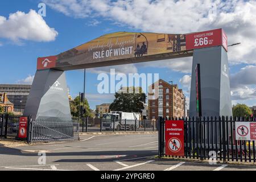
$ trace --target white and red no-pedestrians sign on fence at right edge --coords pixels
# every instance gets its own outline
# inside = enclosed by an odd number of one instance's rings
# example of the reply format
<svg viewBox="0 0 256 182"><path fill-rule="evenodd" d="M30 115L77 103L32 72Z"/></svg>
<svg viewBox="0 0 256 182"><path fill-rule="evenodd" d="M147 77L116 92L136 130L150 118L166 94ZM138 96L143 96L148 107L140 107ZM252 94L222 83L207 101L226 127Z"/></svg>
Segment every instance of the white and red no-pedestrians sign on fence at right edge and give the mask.
<svg viewBox="0 0 256 182"><path fill-rule="evenodd" d="M256 122L236 122L236 140L256 140Z"/></svg>

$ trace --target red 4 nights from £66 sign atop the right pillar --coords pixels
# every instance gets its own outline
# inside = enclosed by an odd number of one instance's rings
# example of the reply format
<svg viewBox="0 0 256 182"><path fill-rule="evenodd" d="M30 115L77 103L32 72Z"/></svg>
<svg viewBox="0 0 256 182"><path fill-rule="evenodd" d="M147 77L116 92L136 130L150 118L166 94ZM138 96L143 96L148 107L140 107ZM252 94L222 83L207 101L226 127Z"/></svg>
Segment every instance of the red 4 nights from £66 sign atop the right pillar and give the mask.
<svg viewBox="0 0 256 182"><path fill-rule="evenodd" d="M220 28L186 35L186 49L223 46L228 51L228 38Z"/></svg>

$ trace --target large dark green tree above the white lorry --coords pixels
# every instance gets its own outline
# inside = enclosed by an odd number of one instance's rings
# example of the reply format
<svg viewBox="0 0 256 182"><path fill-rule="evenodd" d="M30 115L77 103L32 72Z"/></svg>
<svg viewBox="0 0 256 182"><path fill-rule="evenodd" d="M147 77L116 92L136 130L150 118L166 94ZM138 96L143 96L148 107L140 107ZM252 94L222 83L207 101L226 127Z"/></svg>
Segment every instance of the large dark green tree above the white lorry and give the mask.
<svg viewBox="0 0 256 182"><path fill-rule="evenodd" d="M124 93L124 91L126 92ZM133 92L128 92L129 88L121 88L119 92L115 93L115 100L110 104L109 109L115 111L123 112L136 112L142 113L144 109L144 104L146 103L146 94L142 92L142 88L131 87L130 90ZM135 92L135 90L137 92Z"/></svg>

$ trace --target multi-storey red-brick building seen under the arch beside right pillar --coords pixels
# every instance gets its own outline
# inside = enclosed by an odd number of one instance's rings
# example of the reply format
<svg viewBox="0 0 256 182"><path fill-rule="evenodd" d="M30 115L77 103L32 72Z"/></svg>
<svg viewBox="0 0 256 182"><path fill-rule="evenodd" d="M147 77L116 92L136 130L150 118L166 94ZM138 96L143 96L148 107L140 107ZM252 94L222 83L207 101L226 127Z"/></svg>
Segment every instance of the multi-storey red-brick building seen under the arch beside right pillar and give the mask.
<svg viewBox="0 0 256 182"><path fill-rule="evenodd" d="M182 89L162 79L156 85L158 88L154 88L154 84L148 87L148 118L185 117L185 96Z"/></svg>

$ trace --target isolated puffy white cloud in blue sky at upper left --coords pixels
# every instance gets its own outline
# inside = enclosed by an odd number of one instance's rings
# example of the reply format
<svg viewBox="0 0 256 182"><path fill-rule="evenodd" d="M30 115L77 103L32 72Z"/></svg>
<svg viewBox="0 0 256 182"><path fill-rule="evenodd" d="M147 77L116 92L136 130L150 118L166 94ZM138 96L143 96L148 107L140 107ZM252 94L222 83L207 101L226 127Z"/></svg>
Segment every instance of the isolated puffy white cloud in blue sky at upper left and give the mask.
<svg viewBox="0 0 256 182"><path fill-rule="evenodd" d="M29 13L17 11L9 18L0 16L0 38L11 39L14 42L33 40L36 42L49 42L58 35L54 28L50 28L42 16L35 10Z"/></svg>

